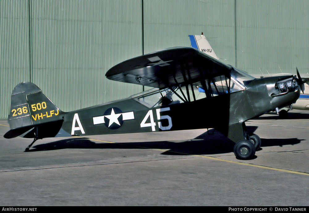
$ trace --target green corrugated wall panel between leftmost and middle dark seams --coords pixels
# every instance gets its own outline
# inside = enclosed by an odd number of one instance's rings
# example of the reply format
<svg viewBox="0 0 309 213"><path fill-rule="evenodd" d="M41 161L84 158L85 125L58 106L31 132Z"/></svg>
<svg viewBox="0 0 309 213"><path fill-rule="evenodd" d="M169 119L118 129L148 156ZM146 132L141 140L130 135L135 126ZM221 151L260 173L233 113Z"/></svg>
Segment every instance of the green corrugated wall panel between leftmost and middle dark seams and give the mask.
<svg viewBox="0 0 309 213"><path fill-rule="evenodd" d="M62 110L142 91L105 78L112 66L142 55L141 2L32 0L33 83Z"/></svg>

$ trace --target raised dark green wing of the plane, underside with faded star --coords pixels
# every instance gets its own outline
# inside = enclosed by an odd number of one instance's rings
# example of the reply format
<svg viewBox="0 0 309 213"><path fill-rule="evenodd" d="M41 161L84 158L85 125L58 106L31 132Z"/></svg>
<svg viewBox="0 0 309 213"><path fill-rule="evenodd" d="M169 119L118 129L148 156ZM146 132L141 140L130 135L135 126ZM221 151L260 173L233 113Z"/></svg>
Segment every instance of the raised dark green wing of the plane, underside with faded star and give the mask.
<svg viewBox="0 0 309 213"><path fill-rule="evenodd" d="M113 66L106 77L160 89L190 84L219 75L232 67L191 47L176 47L129 59Z"/></svg>

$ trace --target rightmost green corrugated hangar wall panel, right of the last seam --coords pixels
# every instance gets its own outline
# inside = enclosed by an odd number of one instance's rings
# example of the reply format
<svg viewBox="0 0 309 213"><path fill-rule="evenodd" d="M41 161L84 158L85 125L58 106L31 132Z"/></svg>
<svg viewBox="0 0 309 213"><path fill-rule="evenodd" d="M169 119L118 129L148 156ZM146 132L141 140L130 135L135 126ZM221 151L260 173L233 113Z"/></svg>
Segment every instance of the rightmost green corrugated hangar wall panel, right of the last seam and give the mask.
<svg viewBox="0 0 309 213"><path fill-rule="evenodd" d="M237 66L252 74L308 73L308 1L239 1ZM260 71L261 70L261 71Z"/></svg>

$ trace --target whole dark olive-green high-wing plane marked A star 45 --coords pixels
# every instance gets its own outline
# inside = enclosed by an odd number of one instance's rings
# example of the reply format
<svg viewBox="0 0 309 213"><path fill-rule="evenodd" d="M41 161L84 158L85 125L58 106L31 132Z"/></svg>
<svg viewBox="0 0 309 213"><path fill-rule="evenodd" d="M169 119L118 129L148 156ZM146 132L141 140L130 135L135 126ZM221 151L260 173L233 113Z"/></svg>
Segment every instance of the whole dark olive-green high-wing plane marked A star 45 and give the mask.
<svg viewBox="0 0 309 213"><path fill-rule="evenodd" d="M11 95L5 138L86 136L214 128L235 142L238 159L251 159L261 139L245 122L293 104L299 76L255 79L192 47L176 47L121 62L110 80L153 87L122 100L62 112L35 84L18 84ZM220 119L217 119L220 116Z"/></svg>

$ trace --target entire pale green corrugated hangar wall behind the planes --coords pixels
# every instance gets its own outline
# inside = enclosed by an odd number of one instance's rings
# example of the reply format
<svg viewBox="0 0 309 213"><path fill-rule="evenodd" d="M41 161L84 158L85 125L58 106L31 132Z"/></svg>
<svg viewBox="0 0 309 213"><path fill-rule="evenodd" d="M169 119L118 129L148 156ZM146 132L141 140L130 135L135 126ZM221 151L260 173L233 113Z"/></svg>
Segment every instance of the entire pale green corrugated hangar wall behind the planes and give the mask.
<svg viewBox="0 0 309 213"><path fill-rule="evenodd" d="M20 82L61 110L121 99L142 86L112 66L204 33L222 62L251 74L308 73L307 0L0 0L0 118Z"/></svg>

